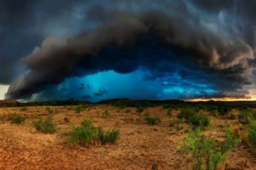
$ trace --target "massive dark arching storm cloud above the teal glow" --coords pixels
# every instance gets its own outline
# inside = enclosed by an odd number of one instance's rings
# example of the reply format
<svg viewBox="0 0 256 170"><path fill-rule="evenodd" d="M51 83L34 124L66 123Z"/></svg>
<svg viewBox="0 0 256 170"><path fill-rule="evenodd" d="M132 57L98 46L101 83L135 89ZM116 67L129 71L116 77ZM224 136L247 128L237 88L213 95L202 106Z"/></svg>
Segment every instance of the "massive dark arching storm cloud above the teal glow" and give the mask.
<svg viewBox="0 0 256 170"><path fill-rule="evenodd" d="M253 83L253 9L241 9L248 6L245 1L56 1L51 5L45 2L33 1L26 4L24 10L38 7L33 13L41 17L39 21L45 28L42 30L49 36L60 31L84 33L69 38L47 37L41 48L35 48L32 54L21 59L28 71L11 84L8 98L25 98L47 85L62 82L66 77L97 71L127 73L145 66L152 71L152 77L163 77L169 71L177 70L168 66L173 58L188 57L200 66L185 65L180 74L194 81L200 80L201 76L208 77L220 91L215 96L245 97L247 90L242 88ZM61 8L58 8L60 4ZM75 28L72 30L70 27L61 30L59 26L49 29L52 20L62 22L62 16L65 16L63 22L74 24L67 7L76 9L72 14L82 24L72 25ZM242 12L241 15L237 16L236 11ZM248 31L250 35L247 35ZM140 50L137 46L150 42L157 42L158 48L163 48L162 54L166 48L172 48L170 53L173 54L143 56L148 49ZM189 74L195 70L199 72L197 75Z"/></svg>

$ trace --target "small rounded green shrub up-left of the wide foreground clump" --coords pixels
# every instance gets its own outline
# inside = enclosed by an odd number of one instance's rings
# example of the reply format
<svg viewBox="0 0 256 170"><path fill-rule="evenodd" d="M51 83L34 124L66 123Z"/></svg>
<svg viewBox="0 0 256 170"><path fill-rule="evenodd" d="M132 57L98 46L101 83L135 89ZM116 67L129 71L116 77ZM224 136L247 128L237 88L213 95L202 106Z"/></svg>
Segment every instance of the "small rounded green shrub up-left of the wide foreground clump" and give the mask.
<svg viewBox="0 0 256 170"><path fill-rule="evenodd" d="M37 131L41 133L55 133L56 127L55 123L52 121L50 117L43 119L39 117L36 121L32 122L32 126L37 129Z"/></svg>

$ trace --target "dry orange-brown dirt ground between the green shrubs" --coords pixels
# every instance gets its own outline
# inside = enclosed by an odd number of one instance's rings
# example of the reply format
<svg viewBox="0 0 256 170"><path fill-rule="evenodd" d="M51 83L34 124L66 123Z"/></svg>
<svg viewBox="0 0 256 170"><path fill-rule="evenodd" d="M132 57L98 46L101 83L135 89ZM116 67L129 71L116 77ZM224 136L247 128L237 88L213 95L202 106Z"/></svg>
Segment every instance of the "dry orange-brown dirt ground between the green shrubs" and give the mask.
<svg viewBox="0 0 256 170"><path fill-rule="evenodd" d="M0 169L151 169L154 164L158 169L190 169L191 156L178 150L178 142L188 134L186 124L169 122L177 120L177 112L172 117L166 116L162 107L148 108L148 113L161 118L158 125L148 125L135 108L128 108L130 113L113 106L98 105L88 110L75 112L75 106L50 106L54 111L57 132L54 134L38 133L32 127L37 116L49 116L44 107L0 108ZM109 116L102 117L108 110ZM11 124L4 117L11 113L26 116L21 125ZM69 117L70 122L64 122ZM117 144L92 145L89 148L74 147L67 144L67 132L71 125L79 125L84 118L92 118L96 125L105 128L119 127L120 139ZM221 137L223 126L236 120L211 117L213 134ZM208 129L205 129L207 133ZM227 160L226 169L256 169L256 160L246 144L233 150Z"/></svg>

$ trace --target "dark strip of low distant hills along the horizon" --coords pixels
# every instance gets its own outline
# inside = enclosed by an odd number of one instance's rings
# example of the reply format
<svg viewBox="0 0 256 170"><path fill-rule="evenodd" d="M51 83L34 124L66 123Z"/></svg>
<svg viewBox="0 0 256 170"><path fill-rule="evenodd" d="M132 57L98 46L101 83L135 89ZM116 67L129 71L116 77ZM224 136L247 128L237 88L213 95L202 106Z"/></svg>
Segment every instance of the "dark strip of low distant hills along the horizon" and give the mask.
<svg viewBox="0 0 256 170"><path fill-rule="evenodd" d="M166 99L166 100L133 100L133 99L107 99L96 103L88 101L79 101L74 99L68 100L48 100L38 102L19 102L17 100L7 99L0 100L0 107L19 107L19 106L39 106L39 105L93 105L93 104L104 104L104 105L115 105L120 108L124 107L150 107L156 105L163 105L164 107L176 107L178 105L191 106L191 105L216 105L216 106L242 106L242 107L253 107L256 108L256 101L183 101L177 99Z"/></svg>

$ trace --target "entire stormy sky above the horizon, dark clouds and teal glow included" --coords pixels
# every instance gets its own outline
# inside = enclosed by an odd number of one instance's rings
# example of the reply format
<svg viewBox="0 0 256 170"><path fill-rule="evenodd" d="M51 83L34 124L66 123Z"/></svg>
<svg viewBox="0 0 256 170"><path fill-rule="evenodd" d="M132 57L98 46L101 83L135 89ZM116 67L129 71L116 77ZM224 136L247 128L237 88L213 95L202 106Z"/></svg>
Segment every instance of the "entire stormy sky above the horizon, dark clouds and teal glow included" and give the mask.
<svg viewBox="0 0 256 170"><path fill-rule="evenodd" d="M256 99L254 8L0 0L0 99Z"/></svg>

